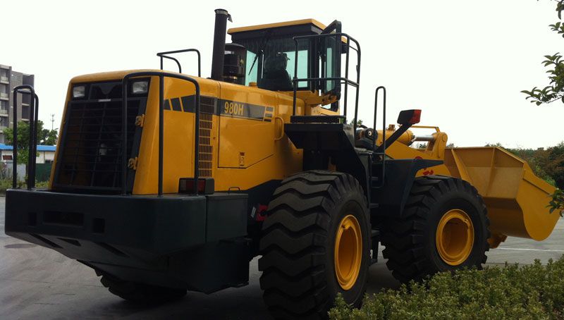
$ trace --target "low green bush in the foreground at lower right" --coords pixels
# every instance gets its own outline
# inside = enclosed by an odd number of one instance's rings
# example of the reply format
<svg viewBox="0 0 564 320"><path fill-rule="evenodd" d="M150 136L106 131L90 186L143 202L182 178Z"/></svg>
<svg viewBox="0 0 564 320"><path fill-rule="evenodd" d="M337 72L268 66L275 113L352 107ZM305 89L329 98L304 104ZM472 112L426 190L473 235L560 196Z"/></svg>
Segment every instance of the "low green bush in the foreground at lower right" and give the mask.
<svg viewBox="0 0 564 320"><path fill-rule="evenodd" d="M489 266L438 273L423 283L364 297L360 309L341 296L331 319L564 319L564 257L542 265Z"/></svg>

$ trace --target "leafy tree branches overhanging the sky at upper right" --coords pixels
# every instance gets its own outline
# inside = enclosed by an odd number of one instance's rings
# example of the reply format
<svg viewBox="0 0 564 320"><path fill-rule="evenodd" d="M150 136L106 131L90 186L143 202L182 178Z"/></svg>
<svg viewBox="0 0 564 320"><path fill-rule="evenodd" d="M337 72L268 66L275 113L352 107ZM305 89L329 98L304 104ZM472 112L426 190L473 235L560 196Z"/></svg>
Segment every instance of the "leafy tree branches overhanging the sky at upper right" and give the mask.
<svg viewBox="0 0 564 320"><path fill-rule="evenodd" d="M562 11L564 9L564 0L556 1L556 11L558 12L558 20L562 20ZM553 25L548 25L551 30L564 37L564 23L558 21ZM540 106L541 104L549 104L554 101L564 102L564 60L560 52L552 55L544 56L546 60L542 61L548 68L548 85L544 89L534 87L532 90L522 90L527 94L525 99L531 99L531 102Z"/></svg>

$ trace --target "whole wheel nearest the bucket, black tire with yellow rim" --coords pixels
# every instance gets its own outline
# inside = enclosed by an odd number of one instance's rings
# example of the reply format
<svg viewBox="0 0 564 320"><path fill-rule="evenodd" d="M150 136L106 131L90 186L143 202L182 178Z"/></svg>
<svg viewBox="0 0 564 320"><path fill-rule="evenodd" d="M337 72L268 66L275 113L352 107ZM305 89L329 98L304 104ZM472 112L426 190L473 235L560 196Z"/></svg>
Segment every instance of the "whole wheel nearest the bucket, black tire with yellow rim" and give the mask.
<svg viewBox="0 0 564 320"><path fill-rule="evenodd" d="M431 274L481 268L489 250L489 219L476 188L457 178L416 178L403 216L383 223L382 252L401 282Z"/></svg>

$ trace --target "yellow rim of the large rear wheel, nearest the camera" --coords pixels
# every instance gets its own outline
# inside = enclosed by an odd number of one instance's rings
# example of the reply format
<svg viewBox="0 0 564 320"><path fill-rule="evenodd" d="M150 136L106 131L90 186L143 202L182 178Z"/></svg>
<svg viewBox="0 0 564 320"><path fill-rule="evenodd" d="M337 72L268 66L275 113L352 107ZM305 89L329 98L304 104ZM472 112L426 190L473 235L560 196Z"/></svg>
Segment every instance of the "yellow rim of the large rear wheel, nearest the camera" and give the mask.
<svg viewBox="0 0 564 320"><path fill-rule="evenodd" d="M355 216L345 216L335 238L335 273L343 290L355 285L362 262L362 232Z"/></svg>

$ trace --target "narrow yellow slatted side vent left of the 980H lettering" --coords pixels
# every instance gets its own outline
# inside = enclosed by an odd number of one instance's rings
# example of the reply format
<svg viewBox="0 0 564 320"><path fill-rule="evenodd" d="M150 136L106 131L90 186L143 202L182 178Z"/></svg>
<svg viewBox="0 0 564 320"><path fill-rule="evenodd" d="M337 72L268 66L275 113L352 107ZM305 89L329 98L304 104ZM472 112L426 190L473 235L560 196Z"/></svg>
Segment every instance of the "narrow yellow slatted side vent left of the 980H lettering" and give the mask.
<svg viewBox="0 0 564 320"><path fill-rule="evenodd" d="M216 108L216 99L200 97L200 147L198 149L198 169L200 177L212 177L213 149L210 142L212 133L212 115Z"/></svg>

